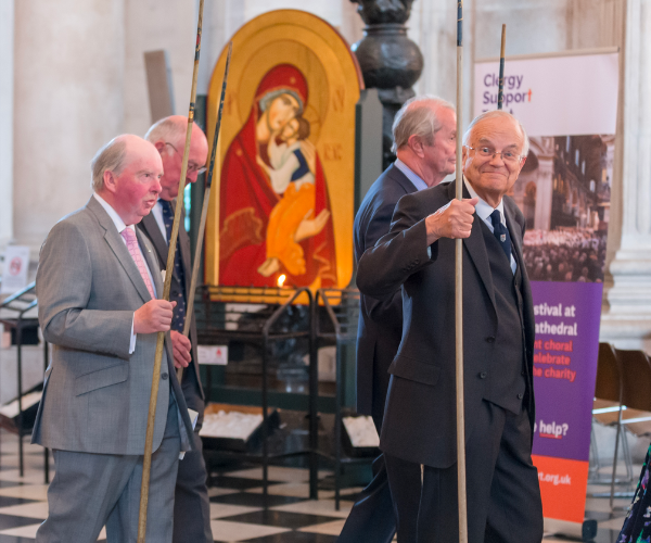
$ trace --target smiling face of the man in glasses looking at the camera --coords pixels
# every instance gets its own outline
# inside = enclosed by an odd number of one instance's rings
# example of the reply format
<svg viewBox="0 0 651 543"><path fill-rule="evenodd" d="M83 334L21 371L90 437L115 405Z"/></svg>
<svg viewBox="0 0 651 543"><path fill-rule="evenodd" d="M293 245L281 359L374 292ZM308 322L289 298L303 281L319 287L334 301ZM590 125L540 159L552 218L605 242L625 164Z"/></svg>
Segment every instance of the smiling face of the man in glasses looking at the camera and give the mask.
<svg viewBox="0 0 651 543"><path fill-rule="evenodd" d="M463 173L483 200L497 206L513 187L524 166L523 148L523 135L511 118L487 118L474 126L463 147ZM488 156L482 156L482 150ZM509 153L512 160L497 153Z"/></svg>

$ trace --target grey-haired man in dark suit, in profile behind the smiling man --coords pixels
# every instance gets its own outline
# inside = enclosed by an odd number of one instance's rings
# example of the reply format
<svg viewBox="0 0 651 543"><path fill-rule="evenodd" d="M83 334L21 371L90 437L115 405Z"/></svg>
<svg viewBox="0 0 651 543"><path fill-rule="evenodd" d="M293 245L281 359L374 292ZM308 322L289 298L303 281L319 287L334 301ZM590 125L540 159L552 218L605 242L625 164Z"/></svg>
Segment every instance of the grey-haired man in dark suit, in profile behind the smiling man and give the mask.
<svg viewBox="0 0 651 543"><path fill-rule="evenodd" d="M417 97L396 113L393 125L396 162L391 165L367 192L355 217L355 256L388 232L391 217L398 200L427 187L438 185L455 171L457 121L455 108L434 97ZM366 295L360 299L360 319L357 334L357 413L370 415L382 429L384 403L391 365L403 337L403 296L399 287L384 300ZM373 463L374 477L354 505L339 543L373 541L390 543L396 532L416 534L420 497L420 466L407 466L401 484L392 489L403 496L392 501L384 458ZM394 506L405 508L394 514Z"/></svg>

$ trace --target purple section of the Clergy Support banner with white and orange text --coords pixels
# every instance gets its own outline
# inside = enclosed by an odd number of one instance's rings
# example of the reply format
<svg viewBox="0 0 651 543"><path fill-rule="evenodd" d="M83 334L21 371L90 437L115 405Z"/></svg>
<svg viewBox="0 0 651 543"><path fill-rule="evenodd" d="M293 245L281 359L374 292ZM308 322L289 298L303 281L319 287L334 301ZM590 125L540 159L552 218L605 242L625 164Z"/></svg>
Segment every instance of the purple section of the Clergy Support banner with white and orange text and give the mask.
<svg viewBox="0 0 651 543"><path fill-rule="evenodd" d="M532 291L534 454L588 462L603 285L532 281Z"/></svg>

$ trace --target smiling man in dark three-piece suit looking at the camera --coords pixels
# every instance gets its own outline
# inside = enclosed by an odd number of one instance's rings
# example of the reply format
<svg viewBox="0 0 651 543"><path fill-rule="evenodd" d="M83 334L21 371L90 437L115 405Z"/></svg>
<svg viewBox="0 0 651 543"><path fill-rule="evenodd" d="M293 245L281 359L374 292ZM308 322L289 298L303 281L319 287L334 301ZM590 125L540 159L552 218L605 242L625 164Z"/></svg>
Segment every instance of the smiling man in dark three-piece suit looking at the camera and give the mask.
<svg viewBox="0 0 651 543"><path fill-rule="evenodd" d="M359 262L365 294L387 298L403 288L403 340L390 369L381 449L392 489L405 466L423 466L417 538L398 531L398 541L456 543L454 239L462 238L469 541L538 543L534 312L524 217L505 195L528 139L512 115L494 111L473 121L463 142L467 200L455 200L455 184L404 197L390 233Z"/></svg>

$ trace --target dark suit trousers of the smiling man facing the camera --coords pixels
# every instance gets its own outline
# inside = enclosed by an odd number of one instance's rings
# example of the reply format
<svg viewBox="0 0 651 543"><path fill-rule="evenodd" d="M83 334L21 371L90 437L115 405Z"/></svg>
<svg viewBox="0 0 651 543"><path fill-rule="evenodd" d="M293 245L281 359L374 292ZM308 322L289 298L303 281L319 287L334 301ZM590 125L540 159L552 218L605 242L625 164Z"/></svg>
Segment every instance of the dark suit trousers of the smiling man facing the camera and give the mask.
<svg viewBox="0 0 651 543"><path fill-rule="evenodd" d="M542 503L526 409L514 415L482 401L473 419L465 440L468 540L540 543ZM413 463L385 456L393 490L406 465ZM424 466L417 532L401 532L398 518L398 543L458 543L457 495L457 464L444 469Z"/></svg>

